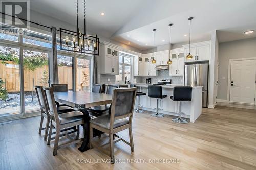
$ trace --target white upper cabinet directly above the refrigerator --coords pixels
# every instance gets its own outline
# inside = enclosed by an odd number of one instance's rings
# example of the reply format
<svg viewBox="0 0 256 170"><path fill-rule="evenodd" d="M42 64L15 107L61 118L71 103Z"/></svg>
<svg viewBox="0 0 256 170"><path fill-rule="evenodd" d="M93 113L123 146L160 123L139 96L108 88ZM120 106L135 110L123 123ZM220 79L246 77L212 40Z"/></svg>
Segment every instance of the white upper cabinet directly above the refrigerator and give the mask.
<svg viewBox="0 0 256 170"><path fill-rule="evenodd" d="M210 59L210 41L190 44L190 54L193 56L193 59L186 59L189 53L189 45L184 45L183 47L185 48L185 62L208 61Z"/></svg>

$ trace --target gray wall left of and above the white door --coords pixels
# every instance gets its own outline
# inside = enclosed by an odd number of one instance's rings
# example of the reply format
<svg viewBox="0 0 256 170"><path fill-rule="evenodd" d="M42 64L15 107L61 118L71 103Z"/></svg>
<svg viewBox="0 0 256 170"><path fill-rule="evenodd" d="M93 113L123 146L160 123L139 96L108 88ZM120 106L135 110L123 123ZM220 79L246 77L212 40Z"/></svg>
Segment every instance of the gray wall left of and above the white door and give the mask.
<svg viewBox="0 0 256 170"><path fill-rule="evenodd" d="M256 38L219 44L218 99L227 100L228 60L256 57Z"/></svg>

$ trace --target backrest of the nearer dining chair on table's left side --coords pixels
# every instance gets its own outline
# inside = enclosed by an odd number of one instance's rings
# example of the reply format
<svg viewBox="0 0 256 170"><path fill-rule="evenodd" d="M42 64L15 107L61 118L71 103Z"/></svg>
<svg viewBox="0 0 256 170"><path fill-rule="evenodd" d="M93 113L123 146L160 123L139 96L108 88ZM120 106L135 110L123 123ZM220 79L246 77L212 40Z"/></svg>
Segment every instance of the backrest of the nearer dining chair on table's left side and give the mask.
<svg viewBox="0 0 256 170"><path fill-rule="evenodd" d="M49 109L48 112L51 116L54 117L56 123L59 123L57 107L55 104L55 99L54 99L54 94L53 94L53 88L52 87L44 87L43 89L46 94L46 100L47 100L48 109Z"/></svg>

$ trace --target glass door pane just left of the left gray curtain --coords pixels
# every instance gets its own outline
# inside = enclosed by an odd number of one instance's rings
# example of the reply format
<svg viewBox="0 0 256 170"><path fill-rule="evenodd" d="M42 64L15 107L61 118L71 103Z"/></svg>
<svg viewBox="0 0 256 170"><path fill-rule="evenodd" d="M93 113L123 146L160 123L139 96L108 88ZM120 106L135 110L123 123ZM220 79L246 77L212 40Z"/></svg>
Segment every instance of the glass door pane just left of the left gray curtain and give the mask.
<svg viewBox="0 0 256 170"><path fill-rule="evenodd" d="M40 110L35 86L49 86L49 54L39 50L23 50L25 113Z"/></svg>

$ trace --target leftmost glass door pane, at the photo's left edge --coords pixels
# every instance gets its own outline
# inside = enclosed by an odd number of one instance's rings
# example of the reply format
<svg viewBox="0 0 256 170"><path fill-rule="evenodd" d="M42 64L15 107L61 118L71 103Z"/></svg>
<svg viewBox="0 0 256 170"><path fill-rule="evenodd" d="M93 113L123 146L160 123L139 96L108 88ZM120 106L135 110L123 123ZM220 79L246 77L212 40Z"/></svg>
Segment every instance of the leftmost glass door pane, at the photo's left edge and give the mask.
<svg viewBox="0 0 256 170"><path fill-rule="evenodd" d="M0 118L20 114L19 49L0 46Z"/></svg>

